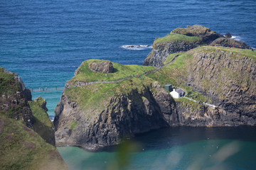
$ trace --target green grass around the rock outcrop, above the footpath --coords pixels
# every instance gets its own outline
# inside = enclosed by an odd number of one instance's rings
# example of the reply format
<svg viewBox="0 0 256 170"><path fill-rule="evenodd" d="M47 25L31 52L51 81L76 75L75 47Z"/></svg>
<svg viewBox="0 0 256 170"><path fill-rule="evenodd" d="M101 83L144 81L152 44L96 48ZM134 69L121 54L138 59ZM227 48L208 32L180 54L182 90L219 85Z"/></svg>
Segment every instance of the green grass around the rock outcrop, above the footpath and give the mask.
<svg viewBox="0 0 256 170"><path fill-rule="evenodd" d="M113 73L100 73L100 72L92 72L88 64L90 62L101 62L102 60L86 60L85 62L82 62L79 69L79 73L77 76L73 77L68 81L68 83L74 83L76 81L117 81L119 79L124 79L126 77L129 77L129 75L134 74L136 76L137 74L144 74L145 72L148 72L149 70L154 70L154 67L151 66L141 66L141 65L124 65L112 62L113 64Z"/></svg>

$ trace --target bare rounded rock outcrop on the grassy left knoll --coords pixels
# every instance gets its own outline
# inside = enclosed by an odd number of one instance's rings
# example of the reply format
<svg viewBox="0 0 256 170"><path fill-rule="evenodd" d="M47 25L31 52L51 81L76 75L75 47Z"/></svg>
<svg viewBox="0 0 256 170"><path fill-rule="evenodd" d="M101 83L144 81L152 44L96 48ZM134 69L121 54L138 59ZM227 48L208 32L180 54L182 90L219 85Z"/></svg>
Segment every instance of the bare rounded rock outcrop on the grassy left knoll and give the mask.
<svg viewBox="0 0 256 170"><path fill-rule="evenodd" d="M102 73L112 73L113 72L113 64L110 61L91 62L89 64L89 68L93 72L102 72Z"/></svg>

